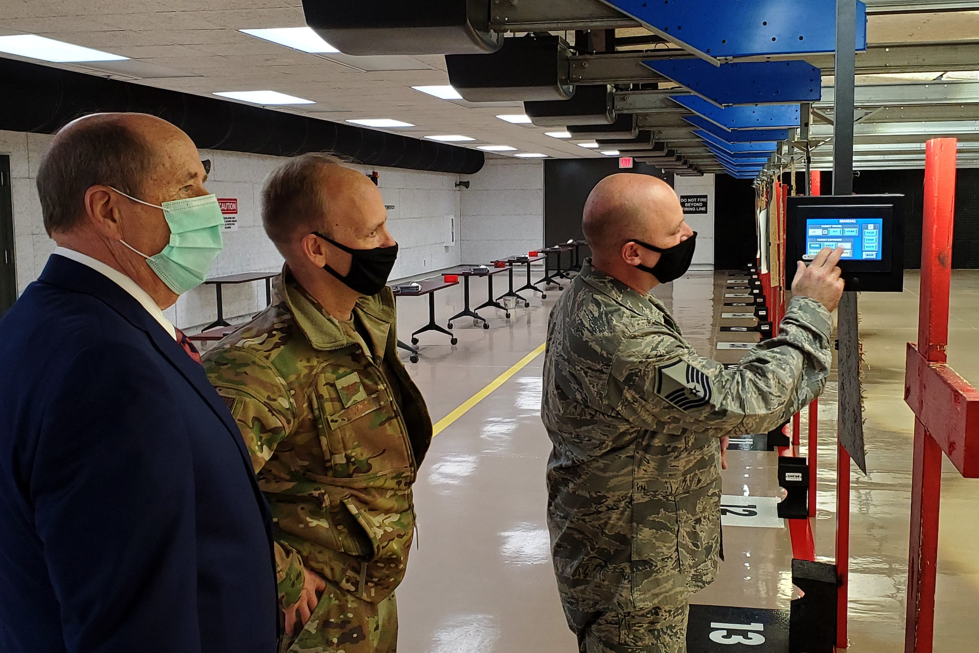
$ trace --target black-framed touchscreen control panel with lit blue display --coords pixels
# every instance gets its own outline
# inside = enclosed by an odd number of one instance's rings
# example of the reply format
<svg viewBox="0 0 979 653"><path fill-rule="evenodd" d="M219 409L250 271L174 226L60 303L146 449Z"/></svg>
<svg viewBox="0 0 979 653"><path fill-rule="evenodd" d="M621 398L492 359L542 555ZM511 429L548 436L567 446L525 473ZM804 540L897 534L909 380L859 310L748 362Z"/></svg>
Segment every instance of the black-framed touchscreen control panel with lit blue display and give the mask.
<svg viewBox="0 0 979 653"><path fill-rule="evenodd" d="M788 198L785 269L810 261L823 248L842 247L846 290L904 290L903 195L821 195Z"/></svg>

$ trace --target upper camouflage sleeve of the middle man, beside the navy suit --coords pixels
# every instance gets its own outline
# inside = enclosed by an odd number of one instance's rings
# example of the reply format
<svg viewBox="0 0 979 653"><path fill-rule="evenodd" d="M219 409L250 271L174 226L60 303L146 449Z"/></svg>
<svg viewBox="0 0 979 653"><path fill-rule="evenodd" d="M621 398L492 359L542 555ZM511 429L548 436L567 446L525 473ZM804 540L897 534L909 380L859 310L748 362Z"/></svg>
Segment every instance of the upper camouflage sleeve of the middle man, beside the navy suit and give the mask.
<svg viewBox="0 0 979 653"><path fill-rule="evenodd" d="M238 423L257 474L295 422L285 380L268 360L240 347L209 352L204 370Z"/></svg>

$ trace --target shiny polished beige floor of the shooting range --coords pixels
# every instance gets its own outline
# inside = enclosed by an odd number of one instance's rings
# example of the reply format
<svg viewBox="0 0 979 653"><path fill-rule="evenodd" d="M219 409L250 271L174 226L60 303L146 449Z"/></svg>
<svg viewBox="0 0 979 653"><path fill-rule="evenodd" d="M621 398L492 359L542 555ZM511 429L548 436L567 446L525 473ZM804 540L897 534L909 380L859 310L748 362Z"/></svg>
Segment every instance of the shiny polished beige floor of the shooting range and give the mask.
<svg viewBox="0 0 979 653"><path fill-rule="evenodd" d="M727 275L694 272L656 294L671 307L691 344L724 362L737 350L719 341L754 342L755 334L718 333ZM501 284L497 283L497 291ZM729 292L729 291L728 291ZM486 286L473 281L473 303ZM457 346L437 333L420 336L420 360L409 364L435 421L463 404L543 342L558 292L516 308L512 319L489 309L491 328L455 324ZM461 308L461 287L437 296L437 319ZM956 272L950 362L979 382L979 273ZM477 301L478 300L478 301ZM865 438L869 474L853 473L851 650L903 649L909 534L912 416L903 401L904 344L915 338L917 279L903 294L861 296ZM425 299L398 303L398 331L407 341L428 320ZM561 612L548 556L544 470L550 444L539 420L537 356L436 437L415 486L418 547L397 590L399 650L406 653L572 652L575 640ZM832 561L835 527L835 380L820 404L820 466L816 548ZM805 412L804 412L805 415ZM803 433L806 422L803 421ZM805 438L804 438L805 442ZM805 447L804 447L805 452ZM975 651L979 624L979 485L947 465L943 480L936 651ZM724 494L776 496L774 454L731 451ZM724 528L726 562L718 582L694 601L787 608L795 595L786 528Z"/></svg>

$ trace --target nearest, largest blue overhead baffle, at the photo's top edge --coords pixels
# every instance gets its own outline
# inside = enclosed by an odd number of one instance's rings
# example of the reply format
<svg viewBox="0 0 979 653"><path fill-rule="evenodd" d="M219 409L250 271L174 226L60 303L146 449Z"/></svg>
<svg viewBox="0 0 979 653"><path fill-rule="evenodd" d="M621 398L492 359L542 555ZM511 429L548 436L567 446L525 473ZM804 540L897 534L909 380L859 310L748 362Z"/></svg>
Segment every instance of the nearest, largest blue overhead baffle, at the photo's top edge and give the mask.
<svg viewBox="0 0 979 653"><path fill-rule="evenodd" d="M836 0L602 0L683 49L723 57L836 51ZM857 50L866 50L866 5L857 3Z"/></svg>

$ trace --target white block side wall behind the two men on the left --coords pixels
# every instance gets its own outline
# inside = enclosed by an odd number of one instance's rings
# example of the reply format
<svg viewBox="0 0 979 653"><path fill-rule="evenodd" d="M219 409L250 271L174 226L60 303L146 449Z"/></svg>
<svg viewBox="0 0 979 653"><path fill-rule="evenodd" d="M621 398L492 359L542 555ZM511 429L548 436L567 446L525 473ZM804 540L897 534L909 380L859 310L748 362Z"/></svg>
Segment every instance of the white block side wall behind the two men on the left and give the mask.
<svg viewBox="0 0 979 653"><path fill-rule="evenodd" d="M35 178L37 166L53 136L0 130L0 154L11 159L17 257L18 291L37 278L54 242L44 231ZM224 251L214 262L211 276L278 269L282 257L265 236L261 226L261 186L268 173L283 161L279 157L236 152L201 151L210 159L209 190L218 198L238 200L238 229L224 232ZM367 173L377 169L379 188L388 211L389 229L400 245L393 279L458 265L461 260L460 192L455 187L459 176L438 172L373 168L351 165ZM480 175L471 175L477 185ZM445 247L446 216L455 218L455 245ZM517 254L525 248L507 251ZM483 258L488 255L479 256ZM504 255L499 255L504 256ZM264 285L260 282L223 287L224 315L241 321L265 305ZM215 317L213 286L202 286L185 295L167 309L167 317L182 329L193 330Z"/></svg>

